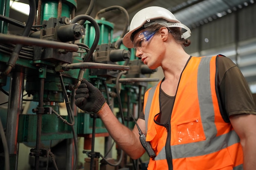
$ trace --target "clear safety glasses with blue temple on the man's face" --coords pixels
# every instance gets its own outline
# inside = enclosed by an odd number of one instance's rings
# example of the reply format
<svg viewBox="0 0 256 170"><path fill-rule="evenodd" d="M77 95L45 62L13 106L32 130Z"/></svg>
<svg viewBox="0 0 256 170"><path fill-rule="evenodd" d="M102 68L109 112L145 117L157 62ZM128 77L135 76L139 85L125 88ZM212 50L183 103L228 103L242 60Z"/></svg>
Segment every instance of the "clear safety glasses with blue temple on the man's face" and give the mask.
<svg viewBox="0 0 256 170"><path fill-rule="evenodd" d="M143 31L139 33L133 40L133 46L135 50L140 50L142 46L144 46L152 37L155 35L155 33L158 31Z"/></svg>

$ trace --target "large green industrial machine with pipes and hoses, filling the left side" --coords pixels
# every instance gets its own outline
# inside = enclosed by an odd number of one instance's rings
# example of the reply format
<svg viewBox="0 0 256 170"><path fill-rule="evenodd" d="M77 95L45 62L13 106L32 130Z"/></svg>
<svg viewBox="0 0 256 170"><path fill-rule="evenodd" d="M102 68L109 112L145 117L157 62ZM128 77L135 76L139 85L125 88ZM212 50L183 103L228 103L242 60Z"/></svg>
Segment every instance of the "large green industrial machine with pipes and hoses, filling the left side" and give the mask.
<svg viewBox="0 0 256 170"><path fill-rule="evenodd" d="M133 128L130 114L138 116L148 82L158 79L148 78L146 75L155 70L135 59L134 49L126 49L121 43L127 27L114 40L114 24L98 17L109 10L125 9L110 7L92 18L90 14L74 15L76 0L29 0L29 6L24 24L9 18L9 0L0 2L1 98L8 99L1 104L7 107L1 108L0 114L0 167L17 170L18 146L24 143L32 148L27 155L33 158L31 166L44 169L42 158L51 157L54 162L49 143L66 140L65 168L75 170L78 152L82 152L77 149L77 137L90 136L92 148L85 153L93 162L100 155L94 152L96 134L108 133L97 115L75 106L75 90L81 80L87 79L99 88L112 110L119 108L118 119ZM8 24L24 31L9 35ZM109 149L106 147L106 151Z"/></svg>

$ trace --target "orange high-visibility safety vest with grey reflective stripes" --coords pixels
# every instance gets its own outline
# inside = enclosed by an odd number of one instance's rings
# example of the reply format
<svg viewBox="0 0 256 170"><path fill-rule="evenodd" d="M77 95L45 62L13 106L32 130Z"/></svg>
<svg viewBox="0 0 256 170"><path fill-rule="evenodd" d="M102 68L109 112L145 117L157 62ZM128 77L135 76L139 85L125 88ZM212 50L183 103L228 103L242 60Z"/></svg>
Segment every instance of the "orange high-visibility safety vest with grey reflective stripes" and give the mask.
<svg viewBox="0 0 256 170"><path fill-rule="evenodd" d="M145 93L146 141L157 155L148 170L243 170L240 139L220 113L217 58L191 57L180 77L170 124L156 122L161 82Z"/></svg>

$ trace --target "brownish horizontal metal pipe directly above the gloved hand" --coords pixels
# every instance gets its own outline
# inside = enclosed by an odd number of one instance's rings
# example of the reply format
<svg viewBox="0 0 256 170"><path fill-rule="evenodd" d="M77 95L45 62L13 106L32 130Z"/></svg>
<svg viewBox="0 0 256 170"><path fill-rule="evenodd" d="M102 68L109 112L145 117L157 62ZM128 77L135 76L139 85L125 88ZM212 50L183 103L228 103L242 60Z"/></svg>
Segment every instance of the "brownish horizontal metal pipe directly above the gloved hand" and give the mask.
<svg viewBox="0 0 256 170"><path fill-rule="evenodd" d="M115 65L115 64L103 64L95 62L81 62L73 64L63 64L61 69L63 71L68 71L69 69L78 69L78 68L101 68L101 69L112 69L112 70L125 70L130 69L129 66Z"/></svg>

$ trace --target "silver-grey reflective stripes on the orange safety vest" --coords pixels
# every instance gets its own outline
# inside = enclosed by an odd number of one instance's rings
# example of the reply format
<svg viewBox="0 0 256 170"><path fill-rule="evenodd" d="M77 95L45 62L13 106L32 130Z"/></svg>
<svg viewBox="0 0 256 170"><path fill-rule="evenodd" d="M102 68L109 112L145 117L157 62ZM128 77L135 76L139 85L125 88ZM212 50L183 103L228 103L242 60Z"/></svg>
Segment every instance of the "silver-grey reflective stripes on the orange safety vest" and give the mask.
<svg viewBox="0 0 256 170"><path fill-rule="evenodd" d="M211 60L211 57L202 57L198 67L198 99L199 99L202 121L204 121L202 122L202 124L204 128L206 140L193 142L189 144L180 144L180 145L171 146L173 159L207 155L207 154L216 152L218 150L222 150L223 148L227 148L228 146L236 144L240 141L238 138L238 135L234 130L230 131L225 135L216 137L217 130L214 124L214 109L213 109L213 101L211 98L210 66L209 66L210 60ZM147 114L149 114L149 112ZM146 112L145 112L145 120L146 120ZM198 149L198 148L201 148L201 149ZM165 147L159 152L157 157L155 157L155 160L161 160L161 159L166 159Z"/></svg>

